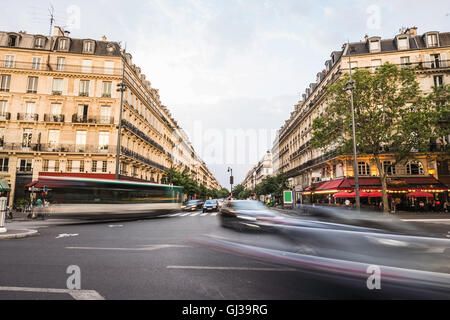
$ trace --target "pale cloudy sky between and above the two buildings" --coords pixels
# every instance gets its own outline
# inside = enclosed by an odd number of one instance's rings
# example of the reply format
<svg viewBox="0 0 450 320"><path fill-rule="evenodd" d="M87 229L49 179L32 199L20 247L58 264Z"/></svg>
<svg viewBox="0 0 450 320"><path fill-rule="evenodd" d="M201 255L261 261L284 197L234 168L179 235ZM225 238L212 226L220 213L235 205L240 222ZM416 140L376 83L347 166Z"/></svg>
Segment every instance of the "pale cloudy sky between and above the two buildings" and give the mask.
<svg viewBox="0 0 450 320"><path fill-rule="evenodd" d="M2 4L0 30L48 34L48 1ZM53 2L76 38L126 43L133 61L223 186L271 148L273 134L334 50L401 27L450 31L450 2L147 0ZM14 13L14 14L11 14Z"/></svg>

